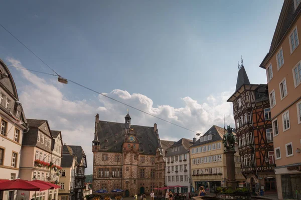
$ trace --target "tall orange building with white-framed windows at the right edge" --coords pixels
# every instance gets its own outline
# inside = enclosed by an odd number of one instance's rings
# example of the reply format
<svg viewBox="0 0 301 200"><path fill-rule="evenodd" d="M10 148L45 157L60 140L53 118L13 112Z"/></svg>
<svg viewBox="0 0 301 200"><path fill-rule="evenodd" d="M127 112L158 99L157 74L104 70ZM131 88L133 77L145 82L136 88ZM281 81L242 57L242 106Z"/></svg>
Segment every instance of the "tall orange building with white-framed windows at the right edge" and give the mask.
<svg viewBox="0 0 301 200"><path fill-rule="evenodd" d="M284 0L266 69L278 198L301 199L301 1Z"/></svg>

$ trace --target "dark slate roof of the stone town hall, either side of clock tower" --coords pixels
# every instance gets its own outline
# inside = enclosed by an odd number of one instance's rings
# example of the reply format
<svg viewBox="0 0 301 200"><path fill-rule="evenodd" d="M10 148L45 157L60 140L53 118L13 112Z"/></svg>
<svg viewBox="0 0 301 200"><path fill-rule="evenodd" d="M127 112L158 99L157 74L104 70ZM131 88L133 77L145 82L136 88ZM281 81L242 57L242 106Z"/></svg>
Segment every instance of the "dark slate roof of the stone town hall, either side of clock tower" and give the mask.
<svg viewBox="0 0 301 200"><path fill-rule="evenodd" d="M125 124L99 120L96 125L101 150L109 152L122 152L122 143L125 140L126 134ZM133 128L136 132L135 136L139 141L139 148L143 149L141 154L156 154L156 150L158 148L158 139L154 127L130 125L130 128Z"/></svg>

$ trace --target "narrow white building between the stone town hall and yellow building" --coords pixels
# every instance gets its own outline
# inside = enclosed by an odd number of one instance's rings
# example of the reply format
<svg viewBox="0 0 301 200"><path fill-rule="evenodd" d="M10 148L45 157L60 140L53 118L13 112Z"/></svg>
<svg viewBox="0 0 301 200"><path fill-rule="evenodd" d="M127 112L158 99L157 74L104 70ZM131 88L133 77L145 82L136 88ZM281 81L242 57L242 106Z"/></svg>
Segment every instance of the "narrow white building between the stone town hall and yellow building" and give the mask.
<svg viewBox="0 0 301 200"><path fill-rule="evenodd" d="M176 186L173 192L191 191L191 170L189 148L193 140L182 138L175 142L166 153L166 185Z"/></svg>

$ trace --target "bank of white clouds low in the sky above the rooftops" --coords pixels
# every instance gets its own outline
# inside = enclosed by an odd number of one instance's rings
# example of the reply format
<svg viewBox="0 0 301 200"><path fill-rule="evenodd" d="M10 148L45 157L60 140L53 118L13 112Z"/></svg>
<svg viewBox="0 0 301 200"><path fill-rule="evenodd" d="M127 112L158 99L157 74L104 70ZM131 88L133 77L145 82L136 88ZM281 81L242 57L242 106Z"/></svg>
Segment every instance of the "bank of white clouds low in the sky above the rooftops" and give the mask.
<svg viewBox="0 0 301 200"><path fill-rule="evenodd" d="M14 58L8 58L8 61L15 66L24 67L19 60ZM63 87L58 86L54 79L46 80L27 70L19 70L19 72L24 77L24 86L19 93L26 116L28 118L48 119L52 129L62 131L64 143L82 145L87 154L87 173L92 172L91 141L94 138L96 113L99 113L100 120L123 122L128 108L133 124L152 126L156 122L162 139L178 140L182 137L192 139L196 136L194 132L127 107L100 94L97 103L91 100L89 96L86 97L88 100L68 99L61 91ZM69 84L66 85L66 87L68 86ZM153 100L143 94L130 94L120 89L114 89L110 93L103 94L188 129L205 132L213 124L223 126L224 114L225 123L233 126L232 104L226 100L234 88L229 90L218 95L211 94L207 97L207 102L203 103L189 96L183 97L184 106L178 108L171 105L155 106ZM94 94L91 93L92 95Z"/></svg>

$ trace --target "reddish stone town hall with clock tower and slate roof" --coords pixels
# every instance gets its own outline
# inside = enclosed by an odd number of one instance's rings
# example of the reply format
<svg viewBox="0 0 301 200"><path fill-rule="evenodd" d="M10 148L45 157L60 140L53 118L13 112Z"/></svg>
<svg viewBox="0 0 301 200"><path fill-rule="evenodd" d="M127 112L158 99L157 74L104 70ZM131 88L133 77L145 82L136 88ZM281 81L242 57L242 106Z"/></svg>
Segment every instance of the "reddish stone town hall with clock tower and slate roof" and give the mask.
<svg viewBox="0 0 301 200"><path fill-rule="evenodd" d="M124 123L95 117L93 191L125 190L125 196L150 193L165 185L165 150L173 142L160 140L157 124L132 125L127 113Z"/></svg>

